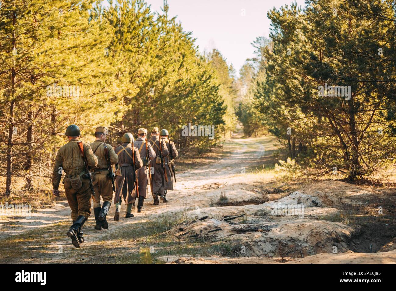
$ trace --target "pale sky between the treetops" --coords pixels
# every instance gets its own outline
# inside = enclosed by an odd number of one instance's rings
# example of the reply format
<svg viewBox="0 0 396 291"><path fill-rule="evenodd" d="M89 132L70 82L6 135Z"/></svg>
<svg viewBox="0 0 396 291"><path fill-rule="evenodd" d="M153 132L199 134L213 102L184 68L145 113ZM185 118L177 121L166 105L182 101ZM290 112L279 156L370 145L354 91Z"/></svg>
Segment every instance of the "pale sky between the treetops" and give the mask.
<svg viewBox="0 0 396 291"><path fill-rule="evenodd" d="M161 11L163 0L146 0ZM168 0L170 17L177 15L185 31L191 31L200 51L217 48L238 76L247 58L253 57L251 42L270 31L268 10L294 0ZM296 1L304 6L303 0Z"/></svg>

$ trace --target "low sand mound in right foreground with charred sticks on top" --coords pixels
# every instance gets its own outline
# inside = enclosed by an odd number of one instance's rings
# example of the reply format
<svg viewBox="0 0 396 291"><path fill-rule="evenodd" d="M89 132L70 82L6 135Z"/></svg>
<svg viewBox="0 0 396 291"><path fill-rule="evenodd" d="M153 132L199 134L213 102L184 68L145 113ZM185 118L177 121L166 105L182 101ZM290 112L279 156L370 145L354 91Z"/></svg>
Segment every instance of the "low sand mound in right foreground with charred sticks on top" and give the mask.
<svg viewBox="0 0 396 291"><path fill-rule="evenodd" d="M330 221L293 219L268 221L267 217L230 216L223 220L204 219L175 226L168 234L178 239L199 238L230 242L234 250L246 255L299 257L316 253L350 251L348 244L355 231L350 226ZM242 219L236 224L237 219ZM245 220L244 220L245 219Z"/></svg>

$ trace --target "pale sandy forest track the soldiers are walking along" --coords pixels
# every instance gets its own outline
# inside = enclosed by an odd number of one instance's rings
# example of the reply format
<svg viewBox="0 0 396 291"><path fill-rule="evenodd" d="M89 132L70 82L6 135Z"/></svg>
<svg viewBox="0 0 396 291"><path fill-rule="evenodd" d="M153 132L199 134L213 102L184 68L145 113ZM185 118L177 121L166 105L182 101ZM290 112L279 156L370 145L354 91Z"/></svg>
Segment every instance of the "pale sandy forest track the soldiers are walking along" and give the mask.
<svg viewBox="0 0 396 291"><path fill-rule="evenodd" d="M137 213L136 210L133 210L135 217L132 219L124 217L126 205L123 204L120 221L113 220L115 207L112 205L107 215L109 229L101 231L94 230L95 220L91 213L84 226L86 242L80 249L83 249L84 246L106 243L104 237L111 237L113 233L119 233L124 228L132 230L138 224L155 220L164 213L194 209L199 209L194 213L205 211L219 199L221 191L217 189L220 187L226 189L222 192L227 191L231 196L239 196L238 192L243 188L243 185L254 183L256 179L255 175L244 175L244 172L249 167L254 167L257 163L260 164L266 159L272 158L272 152L276 148L277 143L273 137L233 138L224 145L224 158L188 171L177 172L175 190L169 191L167 195L168 203L160 202L160 205L154 206L152 205L153 199L149 194L143 206L145 211ZM66 236L71 223L67 200L59 201L51 208L36 210L30 216L0 217L0 240L6 241L6 238L15 238L19 244L16 249L12 249L13 256L19 257L18 250L23 250L28 252L26 253L29 257L27 262L41 262L42 260L44 260L43 262L58 262L62 260L59 250L62 253L73 252L74 247ZM44 229L42 230L42 228ZM59 229L55 237L51 237L50 230L52 228ZM40 236L45 238L44 241L37 240ZM68 259L73 259L72 253L69 255ZM16 260L20 262L20 257ZM1 256L0 261L2 261ZM6 261L12 262L14 259L9 258Z"/></svg>

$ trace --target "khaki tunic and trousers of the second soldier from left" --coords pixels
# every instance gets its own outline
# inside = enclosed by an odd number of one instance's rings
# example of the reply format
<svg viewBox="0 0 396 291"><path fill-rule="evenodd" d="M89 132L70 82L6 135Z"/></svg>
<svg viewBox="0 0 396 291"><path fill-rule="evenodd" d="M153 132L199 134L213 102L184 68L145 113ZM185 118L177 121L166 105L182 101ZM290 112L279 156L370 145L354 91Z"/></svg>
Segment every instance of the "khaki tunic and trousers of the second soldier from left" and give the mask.
<svg viewBox="0 0 396 291"><path fill-rule="evenodd" d="M95 189L95 196L93 199L93 207L100 207L100 197L102 196L103 202L108 201L111 203L113 200L113 187L111 180L107 179L106 175L109 174L109 167L105 157L105 148L103 141L94 141L90 144L93 150L93 154L98 159L98 165L93 169L95 172L95 179L93 181L93 188ZM118 156L114 152L113 148L106 144L109 152L110 164L115 165L118 162Z"/></svg>

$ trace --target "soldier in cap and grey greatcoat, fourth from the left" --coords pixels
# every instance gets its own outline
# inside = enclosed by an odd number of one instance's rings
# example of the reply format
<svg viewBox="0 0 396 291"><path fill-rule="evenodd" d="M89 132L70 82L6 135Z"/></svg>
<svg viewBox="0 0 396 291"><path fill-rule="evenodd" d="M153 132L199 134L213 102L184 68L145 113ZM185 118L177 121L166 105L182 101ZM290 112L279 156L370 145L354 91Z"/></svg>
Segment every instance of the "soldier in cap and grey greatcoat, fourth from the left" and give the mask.
<svg viewBox="0 0 396 291"><path fill-rule="evenodd" d="M139 149L140 158L143 161L143 167L141 167L137 171L137 177L138 177L137 184L139 185L139 200L137 202L137 212L141 212L141 211L144 211L144 209L142 208L143 202L144 202L145 198L147 198L147 194L148 194L148 181L149 181L149 177L150 177L150 173L148 173L148 163L151 160L154 160L154 158L156 157L156 154L155 154L154 150L152 149L152 146L150 145L150 143L148 143L146 141L147 129L139 128L139 130L137 132L137 136L138 136L138 138L133 143L133 145ZM147 148L146 148L146 146L147 146ZM147 158L147 154L148 154L148 158ZM150 183L152 183L152 182L150 182ZM135 189L133 190L133 198L134 199L136 198L136 190Z"/></svg>

